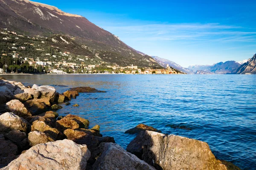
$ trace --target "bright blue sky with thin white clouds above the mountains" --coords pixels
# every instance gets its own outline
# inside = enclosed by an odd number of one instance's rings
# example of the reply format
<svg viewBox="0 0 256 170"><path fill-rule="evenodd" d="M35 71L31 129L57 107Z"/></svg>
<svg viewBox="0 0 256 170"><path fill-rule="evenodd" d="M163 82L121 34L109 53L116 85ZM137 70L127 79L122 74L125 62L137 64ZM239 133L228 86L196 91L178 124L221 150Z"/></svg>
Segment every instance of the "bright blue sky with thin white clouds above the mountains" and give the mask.
<svg viewBox="0 0 256 170"><path fill-rule="evenodd" d="M132 48L177 64L256 53L256 0L34 0L79 14Z"/></svg>

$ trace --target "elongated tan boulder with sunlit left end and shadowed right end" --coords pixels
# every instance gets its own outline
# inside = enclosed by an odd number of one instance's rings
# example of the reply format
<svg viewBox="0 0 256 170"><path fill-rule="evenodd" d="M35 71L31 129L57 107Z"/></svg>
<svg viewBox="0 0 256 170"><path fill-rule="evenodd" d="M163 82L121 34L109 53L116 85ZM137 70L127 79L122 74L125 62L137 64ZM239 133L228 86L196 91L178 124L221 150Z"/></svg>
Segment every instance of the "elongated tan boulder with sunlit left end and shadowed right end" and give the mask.
<svg viewBox="0 0 256 170"><path fill-rule="evenodd" d="M35 121L31 126L31 131L40 131L43 133L47 133L52 139L61 140L64 138L63 133L61 133L58 129L50 127L45 122Z"/></svg>

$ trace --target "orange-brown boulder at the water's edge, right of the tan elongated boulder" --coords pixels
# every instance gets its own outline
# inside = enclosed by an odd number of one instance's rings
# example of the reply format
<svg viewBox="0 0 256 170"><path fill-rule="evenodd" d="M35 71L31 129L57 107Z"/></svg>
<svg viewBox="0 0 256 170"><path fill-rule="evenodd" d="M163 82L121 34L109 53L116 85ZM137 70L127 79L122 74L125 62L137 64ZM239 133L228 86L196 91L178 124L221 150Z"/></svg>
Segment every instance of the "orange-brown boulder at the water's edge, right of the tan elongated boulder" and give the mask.
<svg viewBox="0 0 256 170"><path fill-rule="evenodd" d="M90 122L87 119L83 119L75 115L67 115L63 119L56 122L56 127L64 131L66 129L88 128Z"/></svg>

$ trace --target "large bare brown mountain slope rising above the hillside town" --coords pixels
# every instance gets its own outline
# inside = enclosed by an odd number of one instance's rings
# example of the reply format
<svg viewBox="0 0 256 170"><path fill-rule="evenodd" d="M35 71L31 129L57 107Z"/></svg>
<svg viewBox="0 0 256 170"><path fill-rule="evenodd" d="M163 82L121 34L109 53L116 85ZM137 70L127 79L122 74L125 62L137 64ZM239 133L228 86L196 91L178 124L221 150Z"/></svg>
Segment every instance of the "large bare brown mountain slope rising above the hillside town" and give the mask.
<svg viewBox="0 0 256 170"><path fill-rule="evenodd" d="M29 0L0 0L0 28L7 28L25 37L64 35L86 47L102 61L121 66L133 64L162 68L152 57L138 54L119 37L85 17L66 13L55 6Z"/></svg>

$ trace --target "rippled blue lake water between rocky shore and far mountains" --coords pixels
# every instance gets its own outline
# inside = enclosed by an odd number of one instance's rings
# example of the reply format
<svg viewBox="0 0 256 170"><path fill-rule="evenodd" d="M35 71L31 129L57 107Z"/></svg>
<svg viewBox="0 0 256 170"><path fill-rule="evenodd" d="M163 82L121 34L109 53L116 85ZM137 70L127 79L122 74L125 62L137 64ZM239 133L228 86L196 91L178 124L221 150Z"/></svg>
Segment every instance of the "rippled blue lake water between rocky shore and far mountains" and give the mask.
<svg viewBox="0 0 256 170"><path fill-rule="evenodd" d="M140 123L163 133L207 142L218 159L244 170L256 169L256 75L23 75L19 82L58 87L90 86L107 93L80 94L58 113L99 124L126 148ZM176 127L176 128L175 128ZM181 129L177 127L185 127Z"/></svg>

